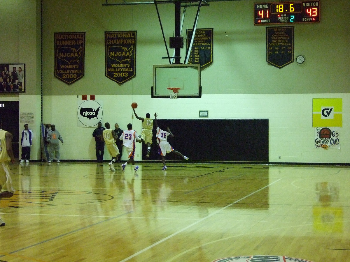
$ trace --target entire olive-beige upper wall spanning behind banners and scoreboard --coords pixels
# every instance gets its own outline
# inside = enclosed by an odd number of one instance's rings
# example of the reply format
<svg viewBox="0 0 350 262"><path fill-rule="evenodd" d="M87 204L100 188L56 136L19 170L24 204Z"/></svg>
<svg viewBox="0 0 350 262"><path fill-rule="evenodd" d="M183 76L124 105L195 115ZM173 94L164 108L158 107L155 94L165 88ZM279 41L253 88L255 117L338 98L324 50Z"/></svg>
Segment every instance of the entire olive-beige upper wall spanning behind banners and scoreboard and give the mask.
<svg viewBox="0 0 350 262"><path fill-rule="evenodd" d="M213 64L202 71L203 94L349 93L348 0L321 0L320 23L294 24L295 56L304 54L306 63L282 69L266 63L266 27L253 25L254 2L210 2L201 8L197 28L214 28ZM161 59L167 55L154 5L103 3L43 0L44 95L150 93L152 65L167 63ZM40 94L39 7L39 0L0 1L10 29L2 37L1 59L26 63L26 94ZM187 8L184 31L193 26L196 10ZM159 5L159 11L168 40L174 34L174 5ZM137 30L136 77L123 85L105 77L104 31L114 30ZM54 32L64 31L86 31L85 75L72 85L54 77Z"/></svg>

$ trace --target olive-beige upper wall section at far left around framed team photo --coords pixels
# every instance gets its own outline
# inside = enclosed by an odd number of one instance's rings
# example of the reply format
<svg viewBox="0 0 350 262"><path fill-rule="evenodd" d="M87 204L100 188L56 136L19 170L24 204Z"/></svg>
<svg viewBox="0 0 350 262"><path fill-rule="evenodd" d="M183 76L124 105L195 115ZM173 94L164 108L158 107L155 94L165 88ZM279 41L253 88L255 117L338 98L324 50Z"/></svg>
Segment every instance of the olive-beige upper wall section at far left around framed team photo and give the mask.
<svg viewBox="0 0 350 262"><path fill-rule="evenodd" d="M40 2L40 1L39 1ZM40 95L40 14L35 0L0 0L0 63L26 64L26 93ZM39 31L37 30L39 28ZM38 49L39 46L39 49ZM39 52L38 52L39 51ZM25 95L21 94L21 95ZM19 94L3 94L19 96Z"/></svg>

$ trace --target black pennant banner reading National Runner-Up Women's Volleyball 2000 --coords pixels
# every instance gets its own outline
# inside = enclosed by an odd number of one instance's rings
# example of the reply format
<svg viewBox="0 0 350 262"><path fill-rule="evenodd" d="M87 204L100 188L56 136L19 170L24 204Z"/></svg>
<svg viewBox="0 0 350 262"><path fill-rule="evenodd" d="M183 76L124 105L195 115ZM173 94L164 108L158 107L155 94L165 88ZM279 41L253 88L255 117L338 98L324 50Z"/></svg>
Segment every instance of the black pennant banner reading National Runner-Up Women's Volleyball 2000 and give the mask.
<svg viewBox="0 0 350 262"><path fill-rule="evenodd" d="M84 76L85 32L55 33L55 77L71 84Z"/></svg>

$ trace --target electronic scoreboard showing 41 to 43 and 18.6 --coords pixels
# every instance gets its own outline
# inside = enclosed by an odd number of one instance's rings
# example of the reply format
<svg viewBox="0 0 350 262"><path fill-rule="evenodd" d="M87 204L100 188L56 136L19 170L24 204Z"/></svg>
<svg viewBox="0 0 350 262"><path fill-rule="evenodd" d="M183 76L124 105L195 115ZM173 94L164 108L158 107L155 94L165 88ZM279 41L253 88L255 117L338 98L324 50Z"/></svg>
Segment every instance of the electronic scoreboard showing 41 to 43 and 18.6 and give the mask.
<svg viewBox="0 0 350 262"><path fill-rule="evenodd" d="M254 3L254 24L320 22L320 1Z"/></svg>

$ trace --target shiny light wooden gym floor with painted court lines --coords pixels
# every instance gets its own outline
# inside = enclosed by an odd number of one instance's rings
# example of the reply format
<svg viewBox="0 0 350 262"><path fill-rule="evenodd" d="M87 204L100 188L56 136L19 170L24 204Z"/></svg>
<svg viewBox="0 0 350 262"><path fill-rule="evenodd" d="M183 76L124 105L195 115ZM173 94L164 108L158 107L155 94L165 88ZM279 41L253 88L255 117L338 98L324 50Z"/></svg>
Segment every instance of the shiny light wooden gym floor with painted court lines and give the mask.
<svg viewBox="0 0 350 262"><path fill-rule="evenodd" d="M167 164L10 165L0 261L349 261L349 166Z"/></svg>

